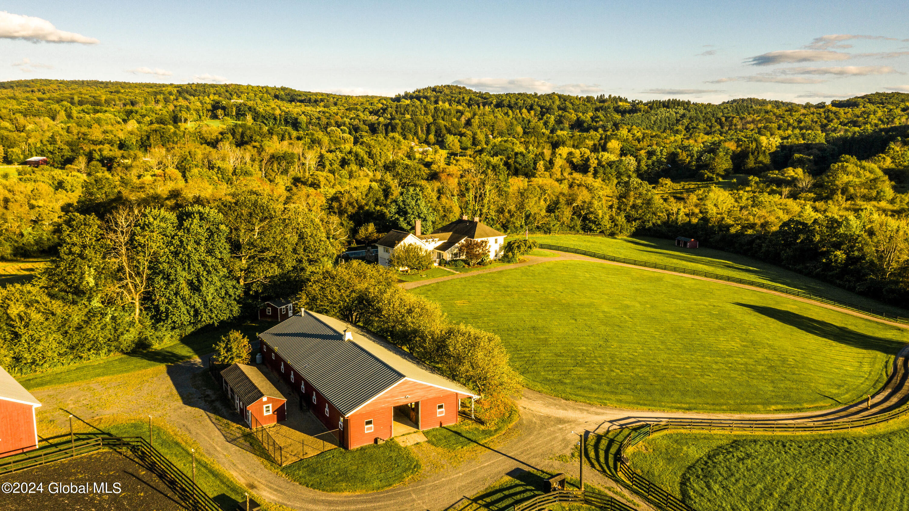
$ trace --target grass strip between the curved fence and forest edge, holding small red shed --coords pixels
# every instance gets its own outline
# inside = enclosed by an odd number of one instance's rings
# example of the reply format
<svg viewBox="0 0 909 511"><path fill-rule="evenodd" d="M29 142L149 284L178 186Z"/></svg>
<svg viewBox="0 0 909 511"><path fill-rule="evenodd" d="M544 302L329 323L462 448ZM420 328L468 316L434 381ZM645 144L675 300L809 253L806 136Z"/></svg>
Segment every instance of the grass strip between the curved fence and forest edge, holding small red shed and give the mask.
<svg viewBox="0 0 909 511"><path fill-rule="evenodd" d="M515 236L520 237L520 236ZM534 235L539 243L562 245L599 252L616 257L627 257L650 263L712 272L725 276L736 276L777 286L802 289L815 295L834 298L851 304L882 310L899 316L909 312L895 306L887 306L871 298L845 291L832 284L803 276L779 266L762 263L751 257L735 255L712 248L688 249L674 245L673 240L652 237L605 237L584 235ZM511 239L511 238L509 238Z"/></svg>

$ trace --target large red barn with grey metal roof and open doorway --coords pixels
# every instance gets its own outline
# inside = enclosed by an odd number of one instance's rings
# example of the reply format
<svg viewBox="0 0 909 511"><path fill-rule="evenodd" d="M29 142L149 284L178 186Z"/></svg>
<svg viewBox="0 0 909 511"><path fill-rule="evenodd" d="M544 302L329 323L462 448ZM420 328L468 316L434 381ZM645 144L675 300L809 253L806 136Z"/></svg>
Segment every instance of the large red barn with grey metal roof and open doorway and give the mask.
<svg viewBox="0 0 909 511"><path fill-rule="evenodd" d="M341 446L451 426L461 399L479 397L372 332L300 312L259 334L262 355Z"/></svg>

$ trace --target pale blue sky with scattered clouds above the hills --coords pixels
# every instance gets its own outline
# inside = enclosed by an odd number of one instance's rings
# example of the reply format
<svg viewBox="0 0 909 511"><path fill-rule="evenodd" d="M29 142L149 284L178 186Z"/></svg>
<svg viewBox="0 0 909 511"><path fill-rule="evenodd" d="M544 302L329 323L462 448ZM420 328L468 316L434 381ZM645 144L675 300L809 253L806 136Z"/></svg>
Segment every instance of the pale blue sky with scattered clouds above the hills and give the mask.
<svg viewBox="0 0 909 511"><path fill-rule="evenodd" d="M764 97L909 92L909 3L58 2L0 6L0 80Z"/></svg>

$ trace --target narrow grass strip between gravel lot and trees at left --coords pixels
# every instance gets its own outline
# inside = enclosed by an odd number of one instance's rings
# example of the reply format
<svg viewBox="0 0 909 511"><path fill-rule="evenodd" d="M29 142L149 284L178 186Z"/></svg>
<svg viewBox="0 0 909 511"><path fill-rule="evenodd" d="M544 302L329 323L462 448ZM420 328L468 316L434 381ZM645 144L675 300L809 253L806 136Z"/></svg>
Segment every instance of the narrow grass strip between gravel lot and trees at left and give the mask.
<svg viewBox="0 0 909 511"><path fill-rule="evenodd" d="M25 388L35 390L44 386L60 386L74 382L91 380L102 376L123 375L141 371L149 367L176 364L195 356L205 356L215 351L215 343L228 331L239 329L250 341L255 341L255 334L264 332L274 326L267 322L251 322L242 326L229 326L208 329L185 336L179 341L152 350L107 356L97 360L81 362L72 366L59 367L44 373L16 377Z"/></svg>

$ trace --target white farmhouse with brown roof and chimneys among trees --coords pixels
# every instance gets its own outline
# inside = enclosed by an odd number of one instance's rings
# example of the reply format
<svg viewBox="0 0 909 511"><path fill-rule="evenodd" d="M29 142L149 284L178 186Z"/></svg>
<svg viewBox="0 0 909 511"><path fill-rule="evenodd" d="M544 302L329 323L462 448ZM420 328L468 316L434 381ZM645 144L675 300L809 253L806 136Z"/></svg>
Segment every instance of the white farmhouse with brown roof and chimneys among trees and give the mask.
<svg viewBox="0 0 909 511"><path fill-rule="evenodd" d="M402 245L423 246L433 255L435 264L438 265L439 261L459 258L459 246L467 239L485 241L489 245L490 259L498 259L502 255L505 234L480 222L480 218L476 216L471 221L467 220L467 216L464 215L460 220L443 225L428 235L420 233L419 220L416 221L415 227L415 234L393 230L388 231L388 234L375 242L380 265L389 266L389 261L395 254L395 248Z"/></svg>

